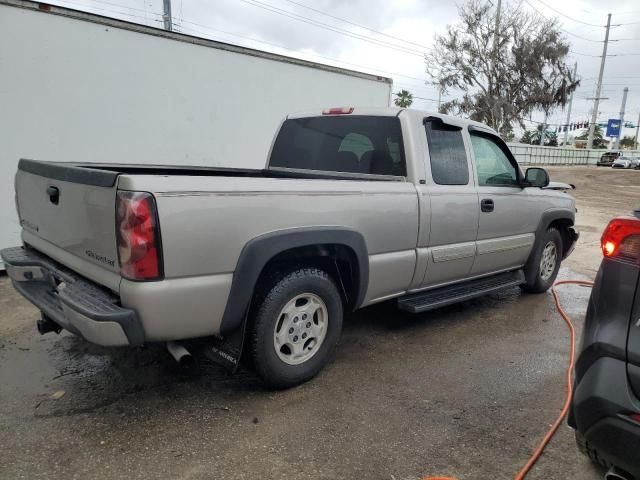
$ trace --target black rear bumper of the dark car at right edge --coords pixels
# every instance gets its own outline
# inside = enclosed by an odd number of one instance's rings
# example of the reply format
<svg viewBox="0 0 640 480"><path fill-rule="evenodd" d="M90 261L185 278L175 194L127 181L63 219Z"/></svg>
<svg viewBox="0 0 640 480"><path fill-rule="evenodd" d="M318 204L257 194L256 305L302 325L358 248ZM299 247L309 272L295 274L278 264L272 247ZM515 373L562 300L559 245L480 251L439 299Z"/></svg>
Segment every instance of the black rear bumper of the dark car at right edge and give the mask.
<svg viewBox="0 0 640 480"><path fill-rule="evenodd" d="M625 414L640 412L623 360L596 360L576 384L569 425L598 456L640 478L640 424Z"/></svg>

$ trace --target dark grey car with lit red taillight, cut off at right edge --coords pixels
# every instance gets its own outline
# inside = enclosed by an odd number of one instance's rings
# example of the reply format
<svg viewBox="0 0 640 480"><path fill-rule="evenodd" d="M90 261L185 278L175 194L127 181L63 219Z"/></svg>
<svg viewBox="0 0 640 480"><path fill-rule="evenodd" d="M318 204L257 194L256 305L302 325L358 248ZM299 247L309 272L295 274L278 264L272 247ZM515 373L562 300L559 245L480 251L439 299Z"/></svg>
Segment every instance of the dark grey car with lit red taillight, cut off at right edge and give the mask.
<svg viewBox="0 0 640 480"><path fill-rule="evenodd" d="M575 365L569 425L580 450L610 468L605 479L640 479L639 217L618 217L602 235Z"/></svg>

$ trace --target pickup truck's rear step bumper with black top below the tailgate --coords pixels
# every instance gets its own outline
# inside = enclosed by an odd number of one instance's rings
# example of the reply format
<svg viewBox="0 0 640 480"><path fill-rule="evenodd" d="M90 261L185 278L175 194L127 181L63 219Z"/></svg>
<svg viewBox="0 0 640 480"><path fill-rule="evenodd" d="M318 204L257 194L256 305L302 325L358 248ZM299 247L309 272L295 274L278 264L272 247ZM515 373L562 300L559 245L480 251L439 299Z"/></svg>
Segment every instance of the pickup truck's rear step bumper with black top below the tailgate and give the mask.
<svg viewBox="0 0 640 480"><path fill-rule="evenodd" d="M141 345L134 310L98 284L30 248L0 251L15 289L62 328L104 346Z"/></svg>

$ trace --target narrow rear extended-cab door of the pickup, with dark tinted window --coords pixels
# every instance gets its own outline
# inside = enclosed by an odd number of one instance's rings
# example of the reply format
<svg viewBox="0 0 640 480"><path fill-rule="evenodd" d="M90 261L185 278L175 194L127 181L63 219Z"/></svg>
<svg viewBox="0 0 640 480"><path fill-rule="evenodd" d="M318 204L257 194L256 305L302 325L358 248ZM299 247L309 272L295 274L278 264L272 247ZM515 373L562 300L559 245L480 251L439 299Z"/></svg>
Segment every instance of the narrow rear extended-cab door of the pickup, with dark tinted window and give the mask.
<svg viewBox="0 0 640 480"><path fill-rule="evenodd" d="M427 245L419 245L426 263L420 287L464 279L473 266L478 233L478 197L462 128L440 118L424 120L426 179L419 185L429 197ZM426 258L425 258L426 257Z"/></svg>

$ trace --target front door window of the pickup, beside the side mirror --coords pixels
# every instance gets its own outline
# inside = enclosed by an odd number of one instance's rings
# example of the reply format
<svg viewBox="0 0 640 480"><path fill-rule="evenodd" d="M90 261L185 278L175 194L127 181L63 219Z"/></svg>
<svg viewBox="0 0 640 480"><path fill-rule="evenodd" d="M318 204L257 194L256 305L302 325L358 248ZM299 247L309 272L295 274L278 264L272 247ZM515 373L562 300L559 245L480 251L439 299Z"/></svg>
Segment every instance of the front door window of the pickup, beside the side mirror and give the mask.
<svg viewBox="0 0 640 480"><path fill-rule="evenodd" d="M494 140L472 133L471 145L476 157L479 186L518 185L517 167Z"/></svg>

